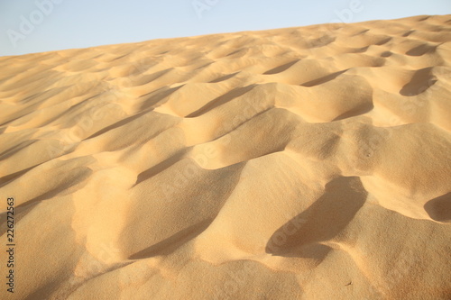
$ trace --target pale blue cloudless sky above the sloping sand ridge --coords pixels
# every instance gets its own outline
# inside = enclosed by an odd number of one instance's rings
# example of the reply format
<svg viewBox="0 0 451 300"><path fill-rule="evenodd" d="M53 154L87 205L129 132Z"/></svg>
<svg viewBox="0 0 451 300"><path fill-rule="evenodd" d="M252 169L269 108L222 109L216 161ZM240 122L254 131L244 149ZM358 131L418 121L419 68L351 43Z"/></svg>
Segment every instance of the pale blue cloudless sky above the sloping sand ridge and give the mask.
<svg viewBox="0 0 451 300"><path fill-rule="evenodd" d="M0 0L0 56L418 14L451 0Z"/></svg>

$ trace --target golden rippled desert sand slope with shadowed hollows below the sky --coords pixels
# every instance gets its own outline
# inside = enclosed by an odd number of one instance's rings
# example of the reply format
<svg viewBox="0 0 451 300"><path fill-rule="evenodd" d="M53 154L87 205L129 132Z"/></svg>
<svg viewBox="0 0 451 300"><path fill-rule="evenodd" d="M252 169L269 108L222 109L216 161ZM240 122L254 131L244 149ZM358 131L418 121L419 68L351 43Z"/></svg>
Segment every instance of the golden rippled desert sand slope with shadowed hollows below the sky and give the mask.
<svg viewBox="0 0 451 300"><path fill-rule="evenodd" d="M451 15L0 69L1 299L451 297Z"/></svg>

